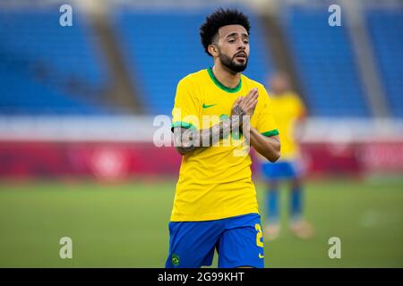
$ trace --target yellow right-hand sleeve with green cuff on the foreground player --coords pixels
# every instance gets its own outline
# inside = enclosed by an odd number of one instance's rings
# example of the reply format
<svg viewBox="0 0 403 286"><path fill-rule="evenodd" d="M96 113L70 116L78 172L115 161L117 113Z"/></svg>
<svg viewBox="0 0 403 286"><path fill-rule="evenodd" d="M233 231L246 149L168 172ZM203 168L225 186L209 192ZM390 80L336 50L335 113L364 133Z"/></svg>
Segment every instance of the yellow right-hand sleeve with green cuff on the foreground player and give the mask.
<svg viewBox="0 0 403 286"><path fill-rule="evenodd" d="M269 95L264 87L259 88L259 99L262 100L262 109L258 114L258 120L256 123L256 129L264 136L270 137L279 135L276 122L274 122L273 115L271 113L271 103Z"/></svg>

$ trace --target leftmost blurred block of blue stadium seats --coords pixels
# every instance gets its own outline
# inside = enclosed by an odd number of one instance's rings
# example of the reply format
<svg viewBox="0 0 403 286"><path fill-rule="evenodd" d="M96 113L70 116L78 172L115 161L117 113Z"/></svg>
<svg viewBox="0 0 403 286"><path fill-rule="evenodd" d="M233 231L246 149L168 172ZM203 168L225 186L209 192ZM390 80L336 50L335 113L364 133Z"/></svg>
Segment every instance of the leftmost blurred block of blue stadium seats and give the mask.
<svg viewBox="0 0 403 286"><path fill-rule="evenodd" d="M106 112L96 103L106 79L96 39L79 13L73 27L61 27L60 15L0 12L0 114Z"/></svg>

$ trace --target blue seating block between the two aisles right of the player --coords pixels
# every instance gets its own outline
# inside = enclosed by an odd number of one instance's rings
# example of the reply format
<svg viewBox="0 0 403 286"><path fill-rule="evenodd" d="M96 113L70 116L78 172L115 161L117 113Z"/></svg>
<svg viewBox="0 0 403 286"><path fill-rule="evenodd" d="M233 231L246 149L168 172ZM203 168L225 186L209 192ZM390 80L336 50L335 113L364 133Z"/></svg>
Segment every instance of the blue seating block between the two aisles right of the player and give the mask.
<svg viewBox="0 0 403 286"><path fill-rule="evenodd" d="M330 27L328 7L294 6L283 25L309 112L314 116L371 115L345 25Z"/></svg>

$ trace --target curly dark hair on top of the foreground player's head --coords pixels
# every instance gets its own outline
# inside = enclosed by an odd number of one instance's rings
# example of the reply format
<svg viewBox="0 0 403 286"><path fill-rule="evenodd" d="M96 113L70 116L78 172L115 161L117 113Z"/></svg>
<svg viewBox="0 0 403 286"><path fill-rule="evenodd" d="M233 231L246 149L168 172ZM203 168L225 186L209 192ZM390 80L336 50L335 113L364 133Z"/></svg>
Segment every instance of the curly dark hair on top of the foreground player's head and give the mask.
<svg viewBox="0 0 403 286"><path fill-rule="evenodd" d="M251 29L249 19L244 13L236 9L224 10L223 8L219 8L210 14L210 16L207 16L206 21L200 27L201 44L204 46L204 51L207 55L210 55L208 46L213 43L214 38L219 32L219 28L227 25L241 25L246 29L248 34Z"/></svg>

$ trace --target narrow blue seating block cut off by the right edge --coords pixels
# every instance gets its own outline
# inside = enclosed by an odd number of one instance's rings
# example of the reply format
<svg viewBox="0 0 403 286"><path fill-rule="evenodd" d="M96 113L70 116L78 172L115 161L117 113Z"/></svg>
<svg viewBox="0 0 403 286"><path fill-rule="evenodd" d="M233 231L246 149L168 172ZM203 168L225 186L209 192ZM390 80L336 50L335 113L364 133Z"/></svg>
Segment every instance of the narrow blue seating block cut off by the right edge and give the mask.
<svg viewBox="0 0 403 286"><path fill-rule="evenodd" d="M368 11L366 20L390 112L403 117L403 10Z"/></svg>

